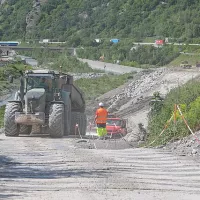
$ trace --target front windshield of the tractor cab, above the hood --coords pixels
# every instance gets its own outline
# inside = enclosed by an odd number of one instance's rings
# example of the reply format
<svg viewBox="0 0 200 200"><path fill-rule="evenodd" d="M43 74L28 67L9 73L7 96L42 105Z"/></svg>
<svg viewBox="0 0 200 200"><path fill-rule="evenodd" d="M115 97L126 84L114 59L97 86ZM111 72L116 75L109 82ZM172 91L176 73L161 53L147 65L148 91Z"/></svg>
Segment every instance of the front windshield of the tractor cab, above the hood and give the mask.
<svg viewBox="0 0 200 200"><path fill-rule="evenodd" d="M47 91L52 91L52 76L45 76L44 74L28 75L26 78L26 90L33 88L44 88Z"/></svg>

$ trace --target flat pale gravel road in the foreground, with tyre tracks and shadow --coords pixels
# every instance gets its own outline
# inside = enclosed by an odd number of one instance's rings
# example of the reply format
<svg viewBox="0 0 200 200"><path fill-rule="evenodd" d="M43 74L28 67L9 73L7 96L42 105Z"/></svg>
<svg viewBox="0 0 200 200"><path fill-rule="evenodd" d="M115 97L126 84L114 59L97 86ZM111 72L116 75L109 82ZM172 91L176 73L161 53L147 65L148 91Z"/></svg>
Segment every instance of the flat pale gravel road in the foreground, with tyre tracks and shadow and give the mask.
<svg viewBox="0 0 200 200"><path fill-rule="evenodd" d="M193 160L161 149L83 149L77 141L0 135L0 199L200 197L200 168Z"/></svg>

